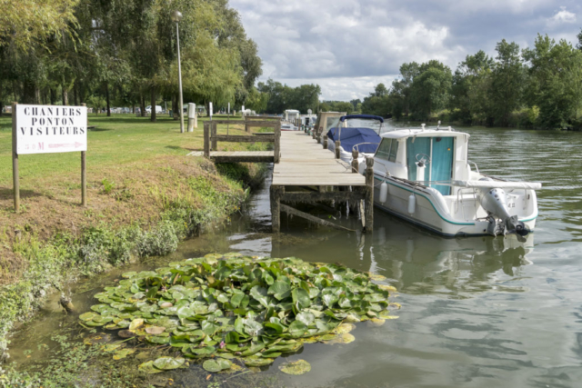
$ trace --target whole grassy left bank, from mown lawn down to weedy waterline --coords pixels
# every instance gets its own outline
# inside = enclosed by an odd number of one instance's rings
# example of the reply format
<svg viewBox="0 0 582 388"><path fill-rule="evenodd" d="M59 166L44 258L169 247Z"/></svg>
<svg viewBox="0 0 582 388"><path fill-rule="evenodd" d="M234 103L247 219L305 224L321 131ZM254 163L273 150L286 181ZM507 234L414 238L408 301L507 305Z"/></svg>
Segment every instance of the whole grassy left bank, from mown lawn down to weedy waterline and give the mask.
<svg viewBox="0 0 582 388"><path fill-rule="evenodd" d="M252 164L218 171L186 156L202 149L201 123L191 134L180 134L166 117L150 123L91 115L90 123L96 129L88 134L88 206L79 205L79 153L24 155L22 209L15 213L11 123L0 118L0 353L14 323L34 313L46 293L77 276L173 252L180 240L235 212L247 194L241 180L261 174ZM229 132L243 133L232 125Z"/></svg>

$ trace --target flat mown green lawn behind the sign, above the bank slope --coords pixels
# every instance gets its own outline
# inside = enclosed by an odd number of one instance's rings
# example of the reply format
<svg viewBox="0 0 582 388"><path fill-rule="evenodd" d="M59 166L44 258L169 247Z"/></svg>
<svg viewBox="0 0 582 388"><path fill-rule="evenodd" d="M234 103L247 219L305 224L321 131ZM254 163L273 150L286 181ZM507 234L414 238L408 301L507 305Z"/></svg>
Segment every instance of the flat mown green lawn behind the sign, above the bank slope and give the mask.
<svg viewBox="0 0 582 388"><path fill-rule="evenodd" d="M223 119L223 117L220 117ZM87 174L107 168L140 161L152 161L156 155L186 155L202 150L206 117L198 120L198 128L192 133L180 133L180 122L167 115L157 117L152 123L149 117L134 114L89 114L89 124L96 128L88 133ZM187 118L185 119L187 126ZM0 188L12 188L12 119L0 117ZM187 128L186 128L187 129ZM218 132L226 134L226 125L219 125ZM230 134L245 134L230 125ZM245 144L218 144L229 150L245 149ZM39 178L80 171L80 153L25 154L19 158L21 188L30 188Z"/></svg>

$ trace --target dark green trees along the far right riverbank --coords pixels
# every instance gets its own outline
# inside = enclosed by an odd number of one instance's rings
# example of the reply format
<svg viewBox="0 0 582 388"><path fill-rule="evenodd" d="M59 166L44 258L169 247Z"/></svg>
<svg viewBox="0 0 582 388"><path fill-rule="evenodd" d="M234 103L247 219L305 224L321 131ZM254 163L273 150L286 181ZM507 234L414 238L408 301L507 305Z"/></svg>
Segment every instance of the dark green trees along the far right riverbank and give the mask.
<svg viewBox="0 0 582 388"><path fill-rule="evenodd" d="M437 60L400 66L391 87L376 85L362 112L415 121L487 126L582 128L582 32L575 47L537 35L520 50L505 39L497 55L467 55L453 73Z"/></svg>

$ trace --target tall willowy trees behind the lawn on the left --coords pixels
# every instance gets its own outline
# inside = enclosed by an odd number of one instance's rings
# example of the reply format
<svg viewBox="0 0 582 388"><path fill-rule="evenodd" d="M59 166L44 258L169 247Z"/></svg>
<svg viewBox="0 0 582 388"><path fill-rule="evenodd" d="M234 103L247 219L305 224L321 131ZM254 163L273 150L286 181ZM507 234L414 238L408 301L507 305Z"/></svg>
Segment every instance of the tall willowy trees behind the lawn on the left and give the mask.
<svg viewBox="0 0 582 388"><path fill-rule="evenodd" d="M227 0L18 0L0 13L3 104L235 106L258 94L262 61ZM152 109L156 121L156 109Z"/></svg>

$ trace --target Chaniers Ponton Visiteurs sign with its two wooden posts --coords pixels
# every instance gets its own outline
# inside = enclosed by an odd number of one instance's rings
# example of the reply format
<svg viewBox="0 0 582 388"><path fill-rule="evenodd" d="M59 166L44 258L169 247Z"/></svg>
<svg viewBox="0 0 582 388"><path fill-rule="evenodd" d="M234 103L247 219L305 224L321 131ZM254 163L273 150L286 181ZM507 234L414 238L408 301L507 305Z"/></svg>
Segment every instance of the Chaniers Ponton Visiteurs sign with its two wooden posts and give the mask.
<svg viewBox="0 0 582 388"><path fill-rule="evenodd" d="M18 156L81 152L81 204L87 205L87 109L83 106L13 103L12 170L15 211L20 209Z"/></svg>

